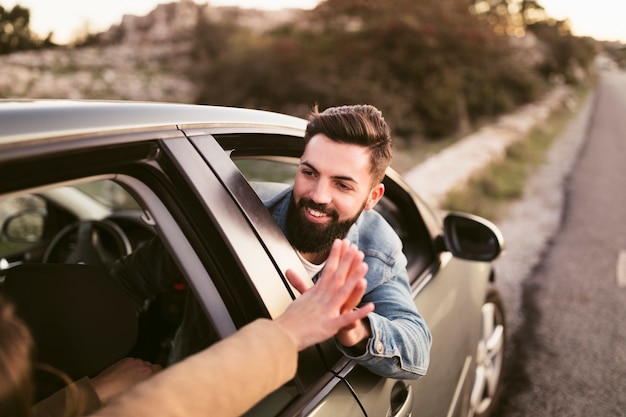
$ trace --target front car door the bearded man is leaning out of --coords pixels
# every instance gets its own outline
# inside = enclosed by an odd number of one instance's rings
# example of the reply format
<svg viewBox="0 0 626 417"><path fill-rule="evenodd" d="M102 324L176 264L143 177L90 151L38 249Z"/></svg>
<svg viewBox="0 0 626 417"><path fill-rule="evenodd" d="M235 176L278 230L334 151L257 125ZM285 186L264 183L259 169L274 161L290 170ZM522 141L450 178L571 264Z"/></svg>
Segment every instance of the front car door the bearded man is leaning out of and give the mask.
<svg viewBox="0 0 626 417"><path fill-rule="evenodd" d="M293 158L300 152L298 138L238 135L218 140L232 151L249 182L289 182L293 178L295 171L290 173L282 165L297 161ZM437 252L437 231L432 231L436 220L422 217L420 203L395 179L388 178L386 188L387 197L380 209L403 239L416 306L433 334L428 375L419 381L388 380L346 364L332 346L322 346L321 351L367 415L409 415L412 410L420 415L459 415L467 409L480 306L490 267ZM429 212L424 216L432 217Z"/></svg>

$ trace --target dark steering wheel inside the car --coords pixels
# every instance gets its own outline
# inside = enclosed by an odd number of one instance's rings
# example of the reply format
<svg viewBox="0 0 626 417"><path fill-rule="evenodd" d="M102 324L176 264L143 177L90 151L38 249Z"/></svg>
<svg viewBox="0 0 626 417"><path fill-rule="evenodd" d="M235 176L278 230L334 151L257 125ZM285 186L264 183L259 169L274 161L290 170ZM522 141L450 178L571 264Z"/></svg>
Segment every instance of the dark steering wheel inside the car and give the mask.
<svg viewBox="0 0 626 417"><path fill-rule="evenodd" d="M43 262L108 268L131 251L128 236L117 224L110 220L83 220L64 227L52 238Z"/></svg>

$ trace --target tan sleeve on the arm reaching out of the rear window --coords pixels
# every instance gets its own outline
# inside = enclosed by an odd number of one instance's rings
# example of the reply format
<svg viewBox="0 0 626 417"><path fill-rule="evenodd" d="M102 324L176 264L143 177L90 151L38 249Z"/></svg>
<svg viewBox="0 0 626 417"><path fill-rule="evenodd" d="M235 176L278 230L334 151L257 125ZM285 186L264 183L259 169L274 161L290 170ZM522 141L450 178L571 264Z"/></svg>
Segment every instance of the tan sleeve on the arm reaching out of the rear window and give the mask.
<svg viewBox="0 0 626 417"><path fill-rule="evenodd" d="M297 362L285 331L258 319L91 416L238 416L293 378Z"/></svg>

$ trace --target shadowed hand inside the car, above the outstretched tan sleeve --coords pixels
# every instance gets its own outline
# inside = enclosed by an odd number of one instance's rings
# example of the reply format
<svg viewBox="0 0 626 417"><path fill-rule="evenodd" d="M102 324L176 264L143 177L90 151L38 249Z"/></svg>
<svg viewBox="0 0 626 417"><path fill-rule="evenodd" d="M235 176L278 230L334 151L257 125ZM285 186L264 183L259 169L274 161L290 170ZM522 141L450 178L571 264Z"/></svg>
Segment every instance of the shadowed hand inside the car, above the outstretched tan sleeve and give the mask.
<svg viewBox="0 0 626 417"><path fill-rule="evenodd" d="M160 370L160 365L136 358L123 358L91 378L91 385L104 404Z"/></svg>

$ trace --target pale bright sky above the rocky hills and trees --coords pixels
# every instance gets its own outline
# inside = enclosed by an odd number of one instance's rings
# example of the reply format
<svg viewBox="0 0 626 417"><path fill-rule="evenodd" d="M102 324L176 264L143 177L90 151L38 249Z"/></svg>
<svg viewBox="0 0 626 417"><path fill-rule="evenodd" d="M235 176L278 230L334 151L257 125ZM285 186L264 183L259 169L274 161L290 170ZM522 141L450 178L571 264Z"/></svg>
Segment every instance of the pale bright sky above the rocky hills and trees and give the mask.
<svg viewBox="0 0 626 417"><path fill-rule="evenodd" d="M120 23L122 16L143 16L160 3L173 0L0 0L5 9L19 4L31 13L31 29L45 37L53 32L53 41L67 43L85 32L100 32ZM204 4L207 1L196 0ZM247 8L311 9L318 0L209 0L211 6L237 5ZM549 16L568 18L577 36L598 40L626 42L626 2L623 0L539 0Z"/></svg>

